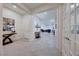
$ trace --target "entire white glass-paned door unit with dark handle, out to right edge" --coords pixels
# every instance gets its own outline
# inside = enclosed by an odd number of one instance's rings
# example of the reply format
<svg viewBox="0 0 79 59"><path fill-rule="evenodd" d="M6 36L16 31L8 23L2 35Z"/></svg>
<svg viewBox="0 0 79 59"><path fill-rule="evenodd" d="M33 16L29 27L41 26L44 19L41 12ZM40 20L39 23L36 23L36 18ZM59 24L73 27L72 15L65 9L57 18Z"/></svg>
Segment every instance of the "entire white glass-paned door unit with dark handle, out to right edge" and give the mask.
<svg viewBox="0 0 79 59"><path fill-rule="evenodd" d="M64 55L79 56L79 4L66 4L65 8Z"/></svg>

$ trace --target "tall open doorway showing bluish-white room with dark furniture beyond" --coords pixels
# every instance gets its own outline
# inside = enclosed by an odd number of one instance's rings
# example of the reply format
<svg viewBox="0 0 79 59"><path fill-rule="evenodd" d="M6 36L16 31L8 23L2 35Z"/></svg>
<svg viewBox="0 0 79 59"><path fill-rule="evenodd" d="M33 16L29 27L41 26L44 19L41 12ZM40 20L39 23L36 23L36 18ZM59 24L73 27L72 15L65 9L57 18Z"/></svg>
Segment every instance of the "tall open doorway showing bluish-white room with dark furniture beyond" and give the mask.
<svg viewBox="0 0 79 59"><path fill-rule="evenodd" d="M58 55L56 49L57 11L47 10L32 14L33 29L39 55ZM40 49L40 51L39 51Z"/></svg>

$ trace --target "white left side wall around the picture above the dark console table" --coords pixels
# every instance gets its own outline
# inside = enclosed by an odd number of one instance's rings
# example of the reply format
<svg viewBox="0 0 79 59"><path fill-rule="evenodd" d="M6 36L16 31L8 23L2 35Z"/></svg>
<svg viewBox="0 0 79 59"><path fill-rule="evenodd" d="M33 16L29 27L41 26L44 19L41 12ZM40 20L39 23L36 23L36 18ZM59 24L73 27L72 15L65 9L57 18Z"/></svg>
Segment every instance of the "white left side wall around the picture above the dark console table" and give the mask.
<svg viewBox="0 0 79 59"><path fill-rule="evenodd" d="M22 16L17 14L14 11L11 11L7 8L3 8L3 17L12 18L15 20L15 31L16 31L16 38L14 40L17 40L22 37Z"/></svg>

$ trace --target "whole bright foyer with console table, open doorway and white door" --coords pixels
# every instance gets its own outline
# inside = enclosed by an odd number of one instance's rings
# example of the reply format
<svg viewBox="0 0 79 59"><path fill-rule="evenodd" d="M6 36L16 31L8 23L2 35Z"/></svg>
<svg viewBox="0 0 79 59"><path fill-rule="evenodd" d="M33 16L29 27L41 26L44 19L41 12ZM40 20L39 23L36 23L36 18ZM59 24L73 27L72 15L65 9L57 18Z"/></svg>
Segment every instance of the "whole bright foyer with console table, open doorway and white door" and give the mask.
<svg viewBox="0 0 79 59"><path fill-rule="evenodd" d="M79 56L78 19L78 3L0 3L0 55Z"/></svg>

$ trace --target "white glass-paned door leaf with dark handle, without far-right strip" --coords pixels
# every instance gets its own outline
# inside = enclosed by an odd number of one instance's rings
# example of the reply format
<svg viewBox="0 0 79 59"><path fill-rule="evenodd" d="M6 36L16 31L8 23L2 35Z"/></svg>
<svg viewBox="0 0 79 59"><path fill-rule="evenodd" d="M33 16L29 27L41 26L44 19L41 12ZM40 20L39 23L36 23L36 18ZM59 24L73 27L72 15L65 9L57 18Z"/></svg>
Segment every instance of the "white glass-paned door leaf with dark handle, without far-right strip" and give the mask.
<svg viewBox="0 0 79 59"><path fill-rule="evenodd" d="M75 55L75 4L65 5L63 55Z"/></svg>

